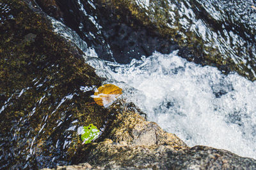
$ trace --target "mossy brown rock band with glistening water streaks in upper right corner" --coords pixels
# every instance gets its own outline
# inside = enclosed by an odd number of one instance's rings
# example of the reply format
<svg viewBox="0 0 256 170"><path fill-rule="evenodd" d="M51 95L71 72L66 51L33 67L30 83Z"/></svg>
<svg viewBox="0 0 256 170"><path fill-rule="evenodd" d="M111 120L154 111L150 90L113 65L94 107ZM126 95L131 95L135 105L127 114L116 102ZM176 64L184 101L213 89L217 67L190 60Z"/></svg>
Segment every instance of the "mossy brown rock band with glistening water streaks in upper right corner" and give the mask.
<svg viewBox="0 0 256 170"><path fill-rule="evenodd" d="M181 57L255 80L256 11L252 1L97 1L124 22L176 42ZM108 11L106 10L106 11ZM132 20L132 21L130 21ZM136 25L136 24L134 24ZM243 44L243 45L242 45ZM184 52L184 47L186 51Z"/></svg>

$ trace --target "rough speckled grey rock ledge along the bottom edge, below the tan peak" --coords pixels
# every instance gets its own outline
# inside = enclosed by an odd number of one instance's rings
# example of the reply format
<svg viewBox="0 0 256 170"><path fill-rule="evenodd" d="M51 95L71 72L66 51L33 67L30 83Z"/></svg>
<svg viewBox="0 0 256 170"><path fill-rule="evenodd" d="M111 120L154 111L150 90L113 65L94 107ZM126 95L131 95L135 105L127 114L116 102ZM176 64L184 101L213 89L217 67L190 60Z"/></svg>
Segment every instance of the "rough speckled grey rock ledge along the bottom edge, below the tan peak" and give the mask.
<svg viewBox="0 0 256 170"><path fill-rule="evenodd" d="M102 148L100 148L102 147ZM255 169L256 160L243 158L207 146L173 150L168 146L118 146L111 141L93 152L92 168L65 166L66 169ZM106 154L108 153L108 154ZM100 154L103 154L100 156ZM90 161L92 162L92 160Z"/></svg>

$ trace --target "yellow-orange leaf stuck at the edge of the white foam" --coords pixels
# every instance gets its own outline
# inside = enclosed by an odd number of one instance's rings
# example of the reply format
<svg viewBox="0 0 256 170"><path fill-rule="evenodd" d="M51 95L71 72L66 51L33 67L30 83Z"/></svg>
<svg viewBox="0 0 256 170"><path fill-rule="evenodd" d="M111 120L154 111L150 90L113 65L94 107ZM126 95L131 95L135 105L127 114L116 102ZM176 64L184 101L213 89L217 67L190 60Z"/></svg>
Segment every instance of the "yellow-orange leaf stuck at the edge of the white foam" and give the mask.
<svg viewBox="0 0 256 170"><path fill-rule="evenodd" d="M122 94L122 89L116 85L106 84L98 88L94 93L93 99L100 106L109 106L115 99Z"/></svg>

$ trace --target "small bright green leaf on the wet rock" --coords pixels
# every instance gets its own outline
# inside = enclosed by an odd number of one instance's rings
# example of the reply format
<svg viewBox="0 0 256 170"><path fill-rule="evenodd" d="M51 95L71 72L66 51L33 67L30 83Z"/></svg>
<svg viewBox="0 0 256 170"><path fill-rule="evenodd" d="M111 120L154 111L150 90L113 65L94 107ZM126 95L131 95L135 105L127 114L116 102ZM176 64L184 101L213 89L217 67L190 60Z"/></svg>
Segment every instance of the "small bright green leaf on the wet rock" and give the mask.
<svg viewBox="0 0 256 170"><path fill-rule="evenodd" d="M81 140L83 144L91 143L93 140L98 138L100 131L97 127L93 124L83 127L83 134L81 134Z"/></svg>

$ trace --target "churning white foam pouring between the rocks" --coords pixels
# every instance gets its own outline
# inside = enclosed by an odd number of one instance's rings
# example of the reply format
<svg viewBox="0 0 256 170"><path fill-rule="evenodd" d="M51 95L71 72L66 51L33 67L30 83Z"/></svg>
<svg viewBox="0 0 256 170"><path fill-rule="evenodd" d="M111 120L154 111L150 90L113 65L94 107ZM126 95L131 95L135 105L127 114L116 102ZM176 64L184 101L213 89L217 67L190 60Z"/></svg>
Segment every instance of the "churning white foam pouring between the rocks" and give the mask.
<svg viewBox="0 0 256 170"><path fill-rule="evenodd" d="M138 90L132 101L149 120L189 146L223 148L256 159L256 82L188 62L177 52L106 64L114 80ZM122 88L130 96L131 90Z"/></svg>

